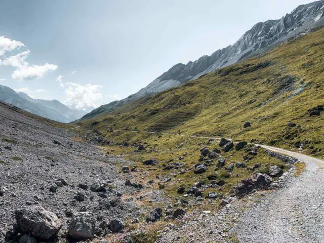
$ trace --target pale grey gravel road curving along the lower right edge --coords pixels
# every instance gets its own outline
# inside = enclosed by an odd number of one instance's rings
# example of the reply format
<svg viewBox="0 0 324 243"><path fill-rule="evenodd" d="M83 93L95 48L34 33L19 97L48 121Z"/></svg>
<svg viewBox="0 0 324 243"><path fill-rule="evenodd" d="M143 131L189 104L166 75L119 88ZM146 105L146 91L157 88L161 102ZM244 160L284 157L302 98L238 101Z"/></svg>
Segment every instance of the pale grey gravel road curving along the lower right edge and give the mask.
<svg viewBox="0 0 324 243"><path fill-rule="evenodd" d="M324 161L288 150L260 145L299 158L306 171L249 209L236 226L240 242L324 242Z"/></svg>

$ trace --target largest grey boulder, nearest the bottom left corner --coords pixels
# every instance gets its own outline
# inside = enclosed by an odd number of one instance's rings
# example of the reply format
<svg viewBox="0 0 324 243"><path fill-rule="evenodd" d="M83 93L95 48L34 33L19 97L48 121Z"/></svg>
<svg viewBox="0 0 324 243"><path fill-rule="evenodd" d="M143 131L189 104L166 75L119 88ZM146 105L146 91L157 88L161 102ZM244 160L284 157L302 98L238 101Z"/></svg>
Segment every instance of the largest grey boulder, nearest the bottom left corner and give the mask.
<svg viewBox="0 0 324 243"><path fill-rule="evenodd" d="M41 239L51 238L63 225L61 219L42 207L16 210L15 218L21 232Z"/></svg>

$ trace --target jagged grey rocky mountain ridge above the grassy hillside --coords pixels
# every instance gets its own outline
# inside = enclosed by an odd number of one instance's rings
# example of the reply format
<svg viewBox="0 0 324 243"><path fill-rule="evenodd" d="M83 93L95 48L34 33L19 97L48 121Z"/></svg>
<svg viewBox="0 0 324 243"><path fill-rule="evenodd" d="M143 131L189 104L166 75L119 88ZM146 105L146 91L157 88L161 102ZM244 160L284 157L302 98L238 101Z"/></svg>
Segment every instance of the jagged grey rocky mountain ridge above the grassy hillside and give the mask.
<svg viewBox="0 0 324 243"><path fill-rule="evenodd" d="M83 119L110 112L140 97L179 86L205 73L269 51L290 38L303 35L312 28L323 25L323 13L324 0L301 5L281 19L257 23L233 45L217 50L210 56L200 57L194 62L178 63L139 92L126 99L102 105L86 114Z"/></svg>

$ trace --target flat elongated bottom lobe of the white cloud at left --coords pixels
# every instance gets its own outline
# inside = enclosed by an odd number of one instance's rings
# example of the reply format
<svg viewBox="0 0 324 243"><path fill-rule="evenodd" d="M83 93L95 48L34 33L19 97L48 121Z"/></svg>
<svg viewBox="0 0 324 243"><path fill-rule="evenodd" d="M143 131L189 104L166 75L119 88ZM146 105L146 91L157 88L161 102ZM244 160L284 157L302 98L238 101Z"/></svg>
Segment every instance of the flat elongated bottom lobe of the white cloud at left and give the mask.
<svg viewBox="0 0 324 243"><path fill-rule="evenodd" d="M14 79L38 79L42 78L48 72L55 71L57 68L57 65L49 63L46 63L42 66L22 66L19 69L16 69L11 76Z"/></svg>

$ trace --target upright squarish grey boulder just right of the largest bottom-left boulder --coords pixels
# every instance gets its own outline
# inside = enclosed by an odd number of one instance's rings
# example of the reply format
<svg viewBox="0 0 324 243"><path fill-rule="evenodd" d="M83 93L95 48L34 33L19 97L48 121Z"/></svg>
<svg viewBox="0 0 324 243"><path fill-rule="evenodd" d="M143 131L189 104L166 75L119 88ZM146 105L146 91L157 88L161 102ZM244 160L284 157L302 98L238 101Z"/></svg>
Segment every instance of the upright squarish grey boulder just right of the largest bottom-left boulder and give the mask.
<svg viewBox="0 0 324 243"><path fill-rule="evenodd" d="M74 239L92 238L95 232L95 220L91 212L75 213L69 226L68 234Z"/></svg>

